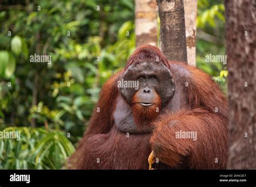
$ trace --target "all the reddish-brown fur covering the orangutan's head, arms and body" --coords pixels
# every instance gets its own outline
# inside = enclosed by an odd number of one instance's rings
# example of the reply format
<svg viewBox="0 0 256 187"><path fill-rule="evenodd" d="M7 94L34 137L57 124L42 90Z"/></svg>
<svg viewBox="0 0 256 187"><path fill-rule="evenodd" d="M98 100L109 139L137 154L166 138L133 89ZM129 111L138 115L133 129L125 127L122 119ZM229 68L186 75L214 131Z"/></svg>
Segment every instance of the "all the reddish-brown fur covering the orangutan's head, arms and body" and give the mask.
<svg viewBox="0 0 256 187"><path fill-rule="evenodd" d="M168 62L153 46L139 47L132 63L154 59L170 68L176 95L152 125L153 134L125 134L114 124L113 111L119 95L120 71L107 81L90 119L89 127L69 159L71 169L148 169L154 150L169 168L224 169L227 159L227 101L217 84L203 71L179 62ZM186 87L185 84L188 86ZM99 107L99 112L97 112ZM214 111L218 109L218 111ZM142 113L136 107L133 112ZM139 117L136 116L139 120ZM196 131L197 141L177 139L178 131ZM215 159L218 163L215 163ZM99 161L99 163L97 162Z"/></svg>

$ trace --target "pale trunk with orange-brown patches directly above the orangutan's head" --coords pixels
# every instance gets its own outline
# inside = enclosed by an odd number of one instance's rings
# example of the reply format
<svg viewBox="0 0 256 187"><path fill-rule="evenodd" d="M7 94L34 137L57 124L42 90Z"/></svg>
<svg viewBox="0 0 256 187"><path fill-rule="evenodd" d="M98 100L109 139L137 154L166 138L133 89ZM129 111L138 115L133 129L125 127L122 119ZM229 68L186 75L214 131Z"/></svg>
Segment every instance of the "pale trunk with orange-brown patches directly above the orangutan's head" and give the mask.
<svg viewBox="0 0 256 187"><path fill-rule="evenodd" d="M137 47L144 44L157 46L156 8L156 0L135 0L135 33Z"/></svg>

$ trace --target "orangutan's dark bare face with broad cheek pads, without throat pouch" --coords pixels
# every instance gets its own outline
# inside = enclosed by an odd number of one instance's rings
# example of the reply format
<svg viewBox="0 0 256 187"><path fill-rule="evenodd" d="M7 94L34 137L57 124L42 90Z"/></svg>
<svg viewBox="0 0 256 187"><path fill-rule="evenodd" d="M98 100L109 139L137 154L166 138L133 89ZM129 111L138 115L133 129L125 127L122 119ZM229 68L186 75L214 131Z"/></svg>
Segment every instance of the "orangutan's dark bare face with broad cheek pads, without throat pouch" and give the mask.
<svg viewBox="0 0 256 187"><path fill-rule="evenodd" d="M119 88L120 94L132 105L132 97L138 91L142 103L150 103L154 99L154 91L158 93L165 106L174 94L175 85L169 69L163 63L140 62L132 64L123 75L124 81L139 81L139 90Z"/></svg>

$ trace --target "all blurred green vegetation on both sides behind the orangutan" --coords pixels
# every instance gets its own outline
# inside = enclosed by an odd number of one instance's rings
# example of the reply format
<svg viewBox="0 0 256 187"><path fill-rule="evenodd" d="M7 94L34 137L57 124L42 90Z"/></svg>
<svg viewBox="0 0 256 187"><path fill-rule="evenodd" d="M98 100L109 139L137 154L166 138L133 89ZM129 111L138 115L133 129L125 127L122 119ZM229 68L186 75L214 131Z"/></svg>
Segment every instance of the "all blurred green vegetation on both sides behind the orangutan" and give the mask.
<svg viewBox="0 0 256 187"><path fill-rule="evenodd" d="M225 54L223 3L198 0L197 66L226 91L225 65L205 63ZM0 140L0 169L63 168L100 88L135 48L134 2L2 1L0 10L0 130L22 136ZM51 63L31 63L33 54Z"/></svg>

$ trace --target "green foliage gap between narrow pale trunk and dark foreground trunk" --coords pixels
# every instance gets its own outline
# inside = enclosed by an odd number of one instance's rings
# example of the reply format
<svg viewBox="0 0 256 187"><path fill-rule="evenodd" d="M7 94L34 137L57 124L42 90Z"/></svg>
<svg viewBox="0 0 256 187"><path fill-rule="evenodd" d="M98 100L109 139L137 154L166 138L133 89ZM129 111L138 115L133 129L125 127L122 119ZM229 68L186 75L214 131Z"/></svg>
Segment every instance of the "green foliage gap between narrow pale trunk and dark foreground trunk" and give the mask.
<svg viewBox="0 0 256 187"><path fill-rule="evenodd" d="M227 71L226 64L221 62L206 63L206 55L225 55L225 17L224 1L198 1L197 15L197 67L213 76L227 92L227 77L220 73Z"/></svg>

